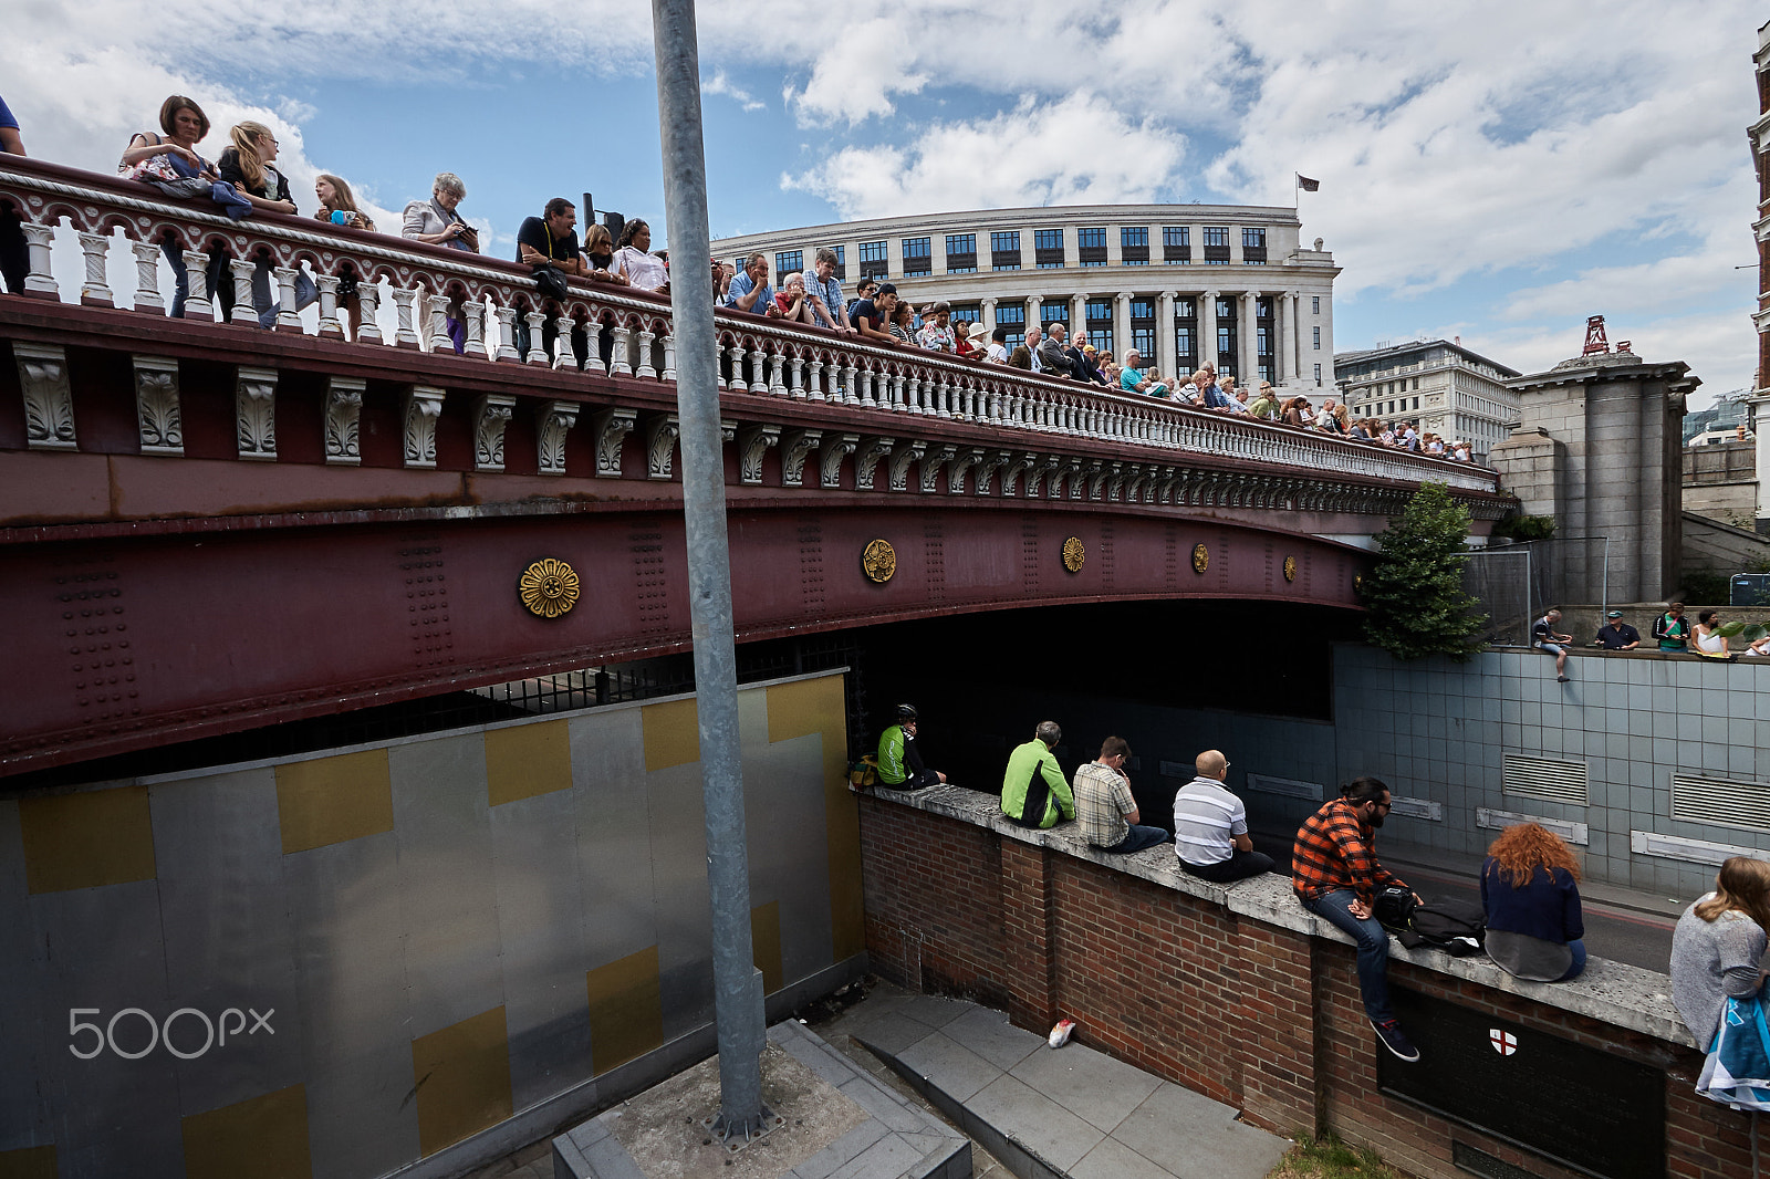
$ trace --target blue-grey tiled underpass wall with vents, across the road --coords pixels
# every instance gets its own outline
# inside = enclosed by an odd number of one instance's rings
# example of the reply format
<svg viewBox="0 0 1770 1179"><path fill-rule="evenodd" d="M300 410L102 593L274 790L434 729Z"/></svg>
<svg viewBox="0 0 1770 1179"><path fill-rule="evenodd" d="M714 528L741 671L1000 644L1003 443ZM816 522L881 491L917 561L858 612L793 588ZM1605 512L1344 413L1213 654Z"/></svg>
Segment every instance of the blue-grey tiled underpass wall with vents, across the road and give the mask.
<svg viewBox="0 0 1770 1179"><path fill-rule="evenodd" d="M1285 839L1320 805L1308 788L1326 798L1372 774L1404 798L1435 804L1420 807L1434 818L1398 809L1384 827L1386 844L1416 853L1480 855L1497 834L1480 825L1483 811L1531 814L1586 841L1588 880L1667 898L1708 890L1735 850L1770 855L1770 659L1582 653L1568 667L1572 683L1556 683L1554 660L1531 650L1467 664L1397 662L1343 643L1333 648L1333 722L1062 696L1060 687L1041 708L1071 740L1066 768L1106 733L1124 735L1138 756L1138 800L1152 811L1143 821L1161 827L1172 825L1165 800L1191 777L1193 756L1218 747L1255 827ZM1030 728L1004 744L1030 738ZM1506 754L1582 772L1584 805L1513 793ZM1163 768L1175 777L1163 779ZM1673 818L1674 774L1724 779L1710 821Z"/></svg>

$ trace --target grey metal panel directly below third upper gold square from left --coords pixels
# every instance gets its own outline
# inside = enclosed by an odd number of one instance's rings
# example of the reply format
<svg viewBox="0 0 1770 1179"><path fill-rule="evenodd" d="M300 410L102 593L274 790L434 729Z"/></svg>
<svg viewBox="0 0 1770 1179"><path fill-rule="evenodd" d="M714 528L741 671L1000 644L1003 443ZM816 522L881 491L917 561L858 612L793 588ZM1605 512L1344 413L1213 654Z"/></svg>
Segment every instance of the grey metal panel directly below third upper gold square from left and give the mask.
<svg viewBox="0 0 1770 1179"><path fill-rule="evenodd" d="M504 1021L515 1108L591 1076L577 790L492 807Z"/></svg>

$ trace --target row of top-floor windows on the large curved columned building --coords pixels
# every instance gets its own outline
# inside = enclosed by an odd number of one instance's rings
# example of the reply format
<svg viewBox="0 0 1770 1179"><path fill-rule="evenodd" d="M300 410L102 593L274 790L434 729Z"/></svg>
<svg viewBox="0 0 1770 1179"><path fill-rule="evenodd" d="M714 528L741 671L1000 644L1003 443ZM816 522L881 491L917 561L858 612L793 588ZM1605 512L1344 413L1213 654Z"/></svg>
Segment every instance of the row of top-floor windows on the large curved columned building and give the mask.
<svg viewBox="0 0 1770 1179"><path fill-rule="evenodd" d="M1205 225L1204 227L1204 257L1200 258L1205 266L1228 266L1228 232L1227 225ZM843 246L832 246L835 250L835 276L848 278L848 258L844 257ZM860 243L860 276L862 278L885 278L890 269L889 262L889 243L885 241L864 241ZM1041 271L1058 271L1064 269L1064 230L1034 230L1032 232L1032 253L1034 266ZM1076 260L1081 266L1106 266L1106 228L1104 227L1080 227L1076 228ZM1149 253L1149 227L1131 227L1124 225L1119 228L1119 260L1122 266L1149 266L1152 262ZM1161 230L1161 260L1170 264L1188 266L1193 262L1191 246L1191 227L1189 225L1168 225ZM1266 230L1264 228L1243 228L1241 230L1241 260L1243 266L1266 266ZM1023 264L1020 250L1020 230L998 230L989 234L989 269L991 271L1018 271ZM775 253L775 274L791 274L793 271L805 269L805 251L804 250L782 250ZM972 274L979 269L977 255L977 234L947 234L947 274ZM904 237L903 239L903 276L904 278L922 278L935 273L933 264L933 237ZM1320 315L1320 297L1315 297L1315 313Z"/></svg>

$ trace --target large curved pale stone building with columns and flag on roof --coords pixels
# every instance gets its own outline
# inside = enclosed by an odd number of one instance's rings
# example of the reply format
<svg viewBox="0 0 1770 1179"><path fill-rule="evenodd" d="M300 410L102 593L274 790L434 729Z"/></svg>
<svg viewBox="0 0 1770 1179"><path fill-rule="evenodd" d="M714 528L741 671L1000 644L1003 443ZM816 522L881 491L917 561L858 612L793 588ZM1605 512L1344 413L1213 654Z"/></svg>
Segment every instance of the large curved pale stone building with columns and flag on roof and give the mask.
<svg viewBox="0 0 1770 1179"><path fill-rule="evenodd" d="M1163 374L1220 372L1317 398L1333 389L1333 280L1296 209L1264 205L1069 205L876 218L724 237L713 257L761 251L775 281L807 271L820 246L853 297L873 276L917 308L1009 329L1062 322L1124 358L1135 345Z"/></svg>

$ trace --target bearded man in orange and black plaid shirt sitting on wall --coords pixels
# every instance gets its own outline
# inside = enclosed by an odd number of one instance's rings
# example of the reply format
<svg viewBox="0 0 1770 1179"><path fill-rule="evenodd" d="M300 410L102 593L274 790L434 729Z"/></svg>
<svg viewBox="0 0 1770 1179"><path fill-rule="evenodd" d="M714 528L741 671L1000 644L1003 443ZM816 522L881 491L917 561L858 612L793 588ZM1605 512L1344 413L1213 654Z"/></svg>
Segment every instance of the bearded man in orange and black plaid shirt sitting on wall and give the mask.
<svg viewBox="0 0 1770 1179"><path fill-rule="evenodd" d="M1412 1062L1420 1059L1420 1050L1389 1007L1389 935L1372 913L1372 896L1379 889L1407 887L1377 862L1375 830L1388 816L1389 788L1374 777L1352 779L1338 798L1297 830L1290 885L1303 908L1358 944L1358 990L1365 998L1365 1014L1382 1046Z"/></svg>

